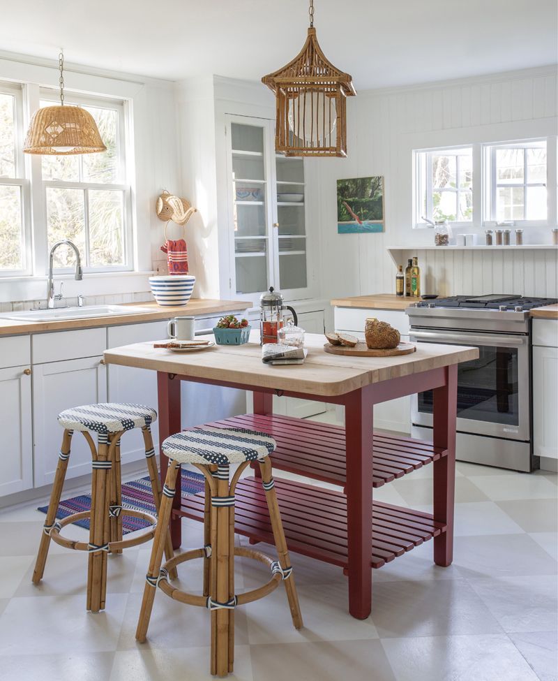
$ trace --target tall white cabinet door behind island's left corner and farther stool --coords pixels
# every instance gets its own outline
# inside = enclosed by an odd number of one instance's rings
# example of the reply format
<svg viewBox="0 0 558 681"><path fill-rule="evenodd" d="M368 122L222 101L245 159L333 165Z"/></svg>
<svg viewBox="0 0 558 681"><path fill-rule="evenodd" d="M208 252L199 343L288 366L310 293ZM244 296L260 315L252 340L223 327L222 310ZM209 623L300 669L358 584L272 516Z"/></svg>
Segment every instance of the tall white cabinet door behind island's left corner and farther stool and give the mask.
<svg viewBox="0 0 558 681"><path fill-rule="evenodd" d="M121 345L157 341L167 338L167 320L146 324L130 324L112 326L108 329L107 347L117 348ZM133 402L146 404L157 409L157 372L135 367L119 367L108 365L108 401ZM156 421L151 426L153 444L158 451L159 425ZM145 456L144 439L140 430L134 429L126 433L121 440L121 457L123 463L141 460Z"/></svg>

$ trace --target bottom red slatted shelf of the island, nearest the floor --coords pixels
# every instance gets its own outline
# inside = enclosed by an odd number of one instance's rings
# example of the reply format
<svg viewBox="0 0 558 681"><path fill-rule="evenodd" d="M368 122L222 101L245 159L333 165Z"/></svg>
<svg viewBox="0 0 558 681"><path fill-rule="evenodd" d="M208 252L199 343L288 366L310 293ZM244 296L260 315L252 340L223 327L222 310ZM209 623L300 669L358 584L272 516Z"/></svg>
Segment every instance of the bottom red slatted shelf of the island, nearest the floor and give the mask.
<svg viewBox="0 0 558 681"><path fill-rule="evenodd" d="M275 478L289 550L347 568L347 504L345 495ZM175 513L204 519L204 495L183 499ZM273 544L262 482L241 478L236 486L235 532L254 541ZM446 532L432 515L375 501L372 509L370 565L379 568L415 546Z"/></svg>

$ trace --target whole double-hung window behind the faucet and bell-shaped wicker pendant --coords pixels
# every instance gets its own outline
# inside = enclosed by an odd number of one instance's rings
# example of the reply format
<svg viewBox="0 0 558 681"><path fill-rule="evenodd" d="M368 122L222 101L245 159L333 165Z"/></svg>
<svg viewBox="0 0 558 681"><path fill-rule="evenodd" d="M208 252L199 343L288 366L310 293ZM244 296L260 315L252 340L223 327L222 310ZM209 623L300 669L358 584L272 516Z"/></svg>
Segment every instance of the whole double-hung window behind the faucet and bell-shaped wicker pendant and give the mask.
<svg viewBox="0 0 558 681"><path fill-rule="evenodd" d="M54 103L54 91L41 93L41 106ZM70 239L80 249L84 270L130 269L123 104L69 95L65 105L80 105L91 113L107 151L41 157L48 247ZM70 249L55 251L55 268L69 268L73 262Z"/></svg>

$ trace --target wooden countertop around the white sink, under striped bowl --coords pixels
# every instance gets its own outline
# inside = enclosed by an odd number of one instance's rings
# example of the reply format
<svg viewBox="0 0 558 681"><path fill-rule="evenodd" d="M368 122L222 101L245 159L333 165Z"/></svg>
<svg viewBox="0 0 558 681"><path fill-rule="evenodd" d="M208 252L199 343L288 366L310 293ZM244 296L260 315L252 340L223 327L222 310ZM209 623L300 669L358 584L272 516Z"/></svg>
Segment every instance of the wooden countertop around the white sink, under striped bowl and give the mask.
<svg viewBox="0 0 558 681"><path fill-rule="evenodd" d="M114 326L134 324L143 321L169 319L177 314L202 316L206 314L224 314L238 312L252 307L250 300L213 300L213 298L191 298L188 305L183 307L160 307L156 302L126 303L119 307L141 307L137 314L112 314L106 317L89 319L66 319L57 321L18 321L17 319L0 318L0 336L10 336L22 333L40 333L43 331L67 331L70 329L95 328L99 326ZM149 312L144 312L148 308Z"/></svg>

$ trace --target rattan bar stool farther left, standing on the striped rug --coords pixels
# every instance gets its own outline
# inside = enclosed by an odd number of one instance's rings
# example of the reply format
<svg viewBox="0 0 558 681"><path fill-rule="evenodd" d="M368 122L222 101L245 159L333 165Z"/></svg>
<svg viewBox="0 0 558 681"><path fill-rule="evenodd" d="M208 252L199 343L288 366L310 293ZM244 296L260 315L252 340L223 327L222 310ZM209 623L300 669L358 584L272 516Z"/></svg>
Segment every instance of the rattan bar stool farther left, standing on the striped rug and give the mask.
<svg viewBox="0 0 558 681"><path fill-rule="evenodd" d="M87 404L83 407L66 409L58 416L64 428L62 446L59 453L54 484L50 494L47 518L43 526L43 534L33 571L33 583L38 584L43 578L50 540L57 544L78 551L89 553L87 571L87 610L97 613L105 608L107 592L107 555L121 553L124 548L149 541L156 532L156 518L151 513L123 508L120 470L120 439L126 430L141 428L147 469L153 491L153 500L157 512L160 509L161 485L155 460L155 450L151 439L151 423L157 418L157 412L151 407L141 404ZM60 503L73 432L82 432L91 449L91 511L73 513L67 518L56 520L56 511ZM95 446L91 432L98 434L98 446ZM147 520L153 527L135 536L133 539L122 539L122 516L132 515ZM66 539L60 534L61 529L70 522L89 518L89 543ZM167 525L163 526L167 528ZM170 534L163 535L163 544L167 559L172 558Z"/></svg>

